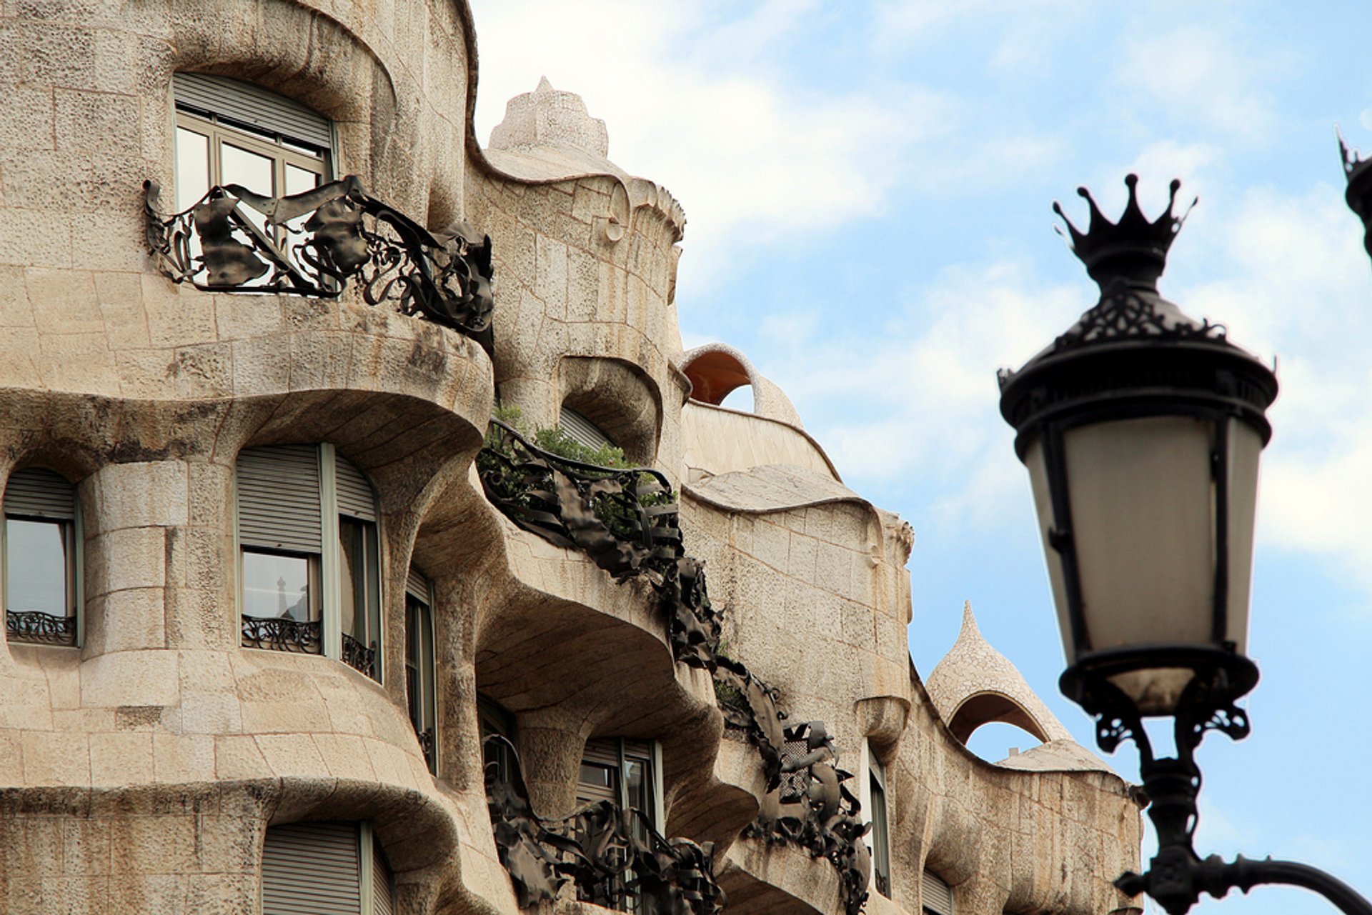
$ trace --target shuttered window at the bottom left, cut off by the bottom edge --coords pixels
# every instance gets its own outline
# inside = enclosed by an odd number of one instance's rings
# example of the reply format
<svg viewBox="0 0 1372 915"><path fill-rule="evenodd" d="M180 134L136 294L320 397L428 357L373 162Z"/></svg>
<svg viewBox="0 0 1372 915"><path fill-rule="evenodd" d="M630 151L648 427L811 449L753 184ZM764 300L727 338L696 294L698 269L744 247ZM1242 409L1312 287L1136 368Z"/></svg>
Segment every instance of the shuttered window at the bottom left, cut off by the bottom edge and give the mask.
<svg viewBox="0 0 1372 915"><path fill-rule="evenodd" d="M392 915L395 885L369 823L287 823L262 844L262 915Z"/></svg>

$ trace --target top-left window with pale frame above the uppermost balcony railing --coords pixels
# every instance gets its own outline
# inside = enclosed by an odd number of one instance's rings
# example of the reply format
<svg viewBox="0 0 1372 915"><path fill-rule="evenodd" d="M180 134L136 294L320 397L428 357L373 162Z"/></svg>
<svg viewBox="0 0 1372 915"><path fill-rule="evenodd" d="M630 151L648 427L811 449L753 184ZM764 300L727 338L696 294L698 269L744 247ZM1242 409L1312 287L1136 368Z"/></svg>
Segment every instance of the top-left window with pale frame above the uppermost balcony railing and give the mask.
<svg viewBox="0 0 1372 915"><path fill-rule="evenodd" d="M207 73L176 73L176 204L213 185L241 184L274 198L332 178L328 118L262 86Z"/></svg>

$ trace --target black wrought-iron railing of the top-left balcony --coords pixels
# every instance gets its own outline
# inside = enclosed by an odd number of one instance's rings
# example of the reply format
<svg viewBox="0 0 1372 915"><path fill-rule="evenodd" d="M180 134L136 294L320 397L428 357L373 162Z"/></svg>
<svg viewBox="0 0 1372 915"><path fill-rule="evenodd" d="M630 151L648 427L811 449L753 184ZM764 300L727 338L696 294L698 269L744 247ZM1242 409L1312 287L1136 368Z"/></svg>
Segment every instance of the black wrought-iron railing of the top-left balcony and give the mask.
<svg viewBox="0 0 1372 915"><path fill-rule="evenodd" d="M214 187L174 214L158 209L155 181L143 187L148 251L177 283L338 298L351 281L368 305L394 302L491 348L491 240L464 222L429 232L357 176L284 198Z"/></svg>

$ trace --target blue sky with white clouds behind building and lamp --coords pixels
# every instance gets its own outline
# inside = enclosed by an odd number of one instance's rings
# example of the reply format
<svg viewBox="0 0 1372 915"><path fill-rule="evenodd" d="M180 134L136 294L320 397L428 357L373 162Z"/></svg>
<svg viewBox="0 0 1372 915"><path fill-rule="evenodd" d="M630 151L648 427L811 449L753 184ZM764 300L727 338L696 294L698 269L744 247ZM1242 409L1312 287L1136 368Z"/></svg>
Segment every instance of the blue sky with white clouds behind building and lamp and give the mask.
<svg viewBox="0 0 1372 915"><path fill-rule="evenodd" d="M910 649L927 676L963 601L1093 748L1063 660L1028 476L997 413L1098 298L1054 232L1140 176L1200 200L1162 294L1277 359L1246 700L1211 734L1196 851L1295 859L1372 894L1372 266L1334 125L1372 150L1365 4L1213 0L473 0L476 129L546 75L609 156L686 210L676 306L788 391L844 482L915 530ZM730 402L735 405L735 402ZM737 402L748 409L748 402ZM988 759L1032 738L982 728ZM1124 745L1109 761L1136 778ZM1154 851L1144 844L1144 860ZM1257 888L1200 915L1332 911Z"/></svg>

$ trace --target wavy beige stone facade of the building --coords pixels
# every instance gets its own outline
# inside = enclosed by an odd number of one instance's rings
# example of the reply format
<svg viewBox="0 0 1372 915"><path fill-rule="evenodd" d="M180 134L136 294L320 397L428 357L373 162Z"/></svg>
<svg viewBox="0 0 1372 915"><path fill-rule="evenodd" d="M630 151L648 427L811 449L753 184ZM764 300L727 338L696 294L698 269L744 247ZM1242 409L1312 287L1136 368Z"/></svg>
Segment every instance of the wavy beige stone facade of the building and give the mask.
<svg viewBox="0 0 1372 915"><path fill-rule="evenodd" d="M868 911L919 912L926 868L959 915L1128 905L1109 882L1137 864L1126 786L984 763L925 691L908 525L841 484L779 391L775 416L689 403L676 202L605 161L605 126L546 84L483 151L475 62L454 0L0 7L0 480L43 466L74 486L81 626L75 646L0 650L0 910L250 915L269 827L342 820L375 831L395 911L514 912L480 691L513 717L539 813L575 805L587 739L657 741L660 826L715 842L730 911L841 911L825 861L744 834L761 765L708 672L674 660L652 589L487 501L473 458L497 391L532 425L573 407L665 475L729 650L793 720L829 723L845 768L885 764L892 879ZM354 285L173 283L141 185L177 181L178 71L313 108L335 176L432 232L490 235L494 358ZM380 682L241 646L235 466L287 443L332 444L375 490ZM412 568L432 583L434 771L406 711Z"/></svg>

